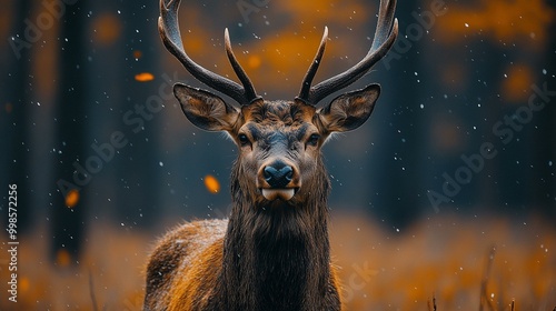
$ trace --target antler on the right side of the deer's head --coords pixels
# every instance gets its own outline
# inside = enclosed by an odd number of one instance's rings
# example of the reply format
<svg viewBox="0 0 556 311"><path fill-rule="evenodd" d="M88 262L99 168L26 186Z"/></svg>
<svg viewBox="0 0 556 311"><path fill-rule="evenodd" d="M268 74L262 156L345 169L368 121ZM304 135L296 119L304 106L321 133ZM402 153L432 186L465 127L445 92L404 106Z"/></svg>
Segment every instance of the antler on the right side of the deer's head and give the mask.
<svg viewBox="0 0 556 311"><path fill-rule="evenodd" d="M394 44L394 41L396 41L398 36L398 19L394 18L396 0L380 0L377 29L367 56L356 66L344 71L342 73L310 87L312 78L315 78L315 73L320 64L320 59L325 52L326 40L328 38L328 29L325 27L325 33L322 34L319 49L304 78L301 90L297 99L310 104L317 104L321 99L337 90L348 87L365 76L365 73L367 73L375 63L386 56L386 52L388 52Z"/></svg>

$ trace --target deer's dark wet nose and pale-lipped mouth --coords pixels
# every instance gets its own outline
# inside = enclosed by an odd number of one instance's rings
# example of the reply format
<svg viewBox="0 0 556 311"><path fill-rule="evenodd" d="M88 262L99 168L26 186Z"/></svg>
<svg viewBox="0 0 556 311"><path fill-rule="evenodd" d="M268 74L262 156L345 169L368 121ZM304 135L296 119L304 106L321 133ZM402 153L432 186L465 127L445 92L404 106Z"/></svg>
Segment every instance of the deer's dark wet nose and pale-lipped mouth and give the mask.
<svg viewBox="0 0 556 311"><path fill-rule="evenodd" d="M257 178L262 195L269 200L290 200L300 187L298 170L295 165L277 160L264 164Z"/></svg>

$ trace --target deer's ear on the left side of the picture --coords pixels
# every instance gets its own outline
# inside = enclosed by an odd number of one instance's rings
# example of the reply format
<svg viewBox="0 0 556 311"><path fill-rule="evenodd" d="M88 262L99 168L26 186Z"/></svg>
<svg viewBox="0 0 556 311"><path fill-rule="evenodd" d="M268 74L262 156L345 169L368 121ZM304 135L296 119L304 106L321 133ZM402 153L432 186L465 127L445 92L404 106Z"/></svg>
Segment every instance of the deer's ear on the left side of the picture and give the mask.
<svg viewBox="0 0 556 311"><path fill-rule="evenodd" d="M173 94L187 119L207 131L231 131L239 112L211 92L176 83Z"/></svg>

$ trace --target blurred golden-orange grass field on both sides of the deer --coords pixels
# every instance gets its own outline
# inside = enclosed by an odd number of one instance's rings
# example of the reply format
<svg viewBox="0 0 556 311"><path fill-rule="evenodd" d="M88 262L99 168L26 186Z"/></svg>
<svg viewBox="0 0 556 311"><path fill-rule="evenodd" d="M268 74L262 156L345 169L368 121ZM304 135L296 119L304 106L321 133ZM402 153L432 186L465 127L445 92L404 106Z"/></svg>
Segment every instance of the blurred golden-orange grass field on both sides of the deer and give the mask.
<svg viewBox="0 0 556 311"><path fill-rule="evenodd" d="M540 219L431 215L398 231L335 214L330 232L346 310L556 307L556 228ZM7 298L4 242L0 310L141 310L142 268L160 234L92 224L76 264L63 253L50 262L44 230L21 237L17 303Z"/></svg>

